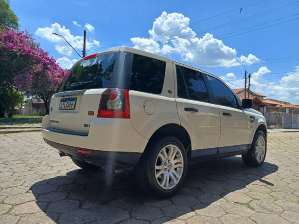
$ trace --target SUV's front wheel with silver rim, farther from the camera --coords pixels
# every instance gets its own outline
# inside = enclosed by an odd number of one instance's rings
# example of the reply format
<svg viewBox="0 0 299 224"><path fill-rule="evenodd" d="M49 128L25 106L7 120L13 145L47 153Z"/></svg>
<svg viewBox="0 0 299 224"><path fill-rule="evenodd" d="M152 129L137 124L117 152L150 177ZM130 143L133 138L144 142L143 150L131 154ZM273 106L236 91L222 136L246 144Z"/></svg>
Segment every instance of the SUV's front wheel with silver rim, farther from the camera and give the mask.
<svg viewBox="0 0 299 224"><path fill-rule="evenodd" d="M249 151L242 155L242 160L248 166L259 167L264 163L266 154L266 135L263 131L259 130L254 135Z"/></svg>

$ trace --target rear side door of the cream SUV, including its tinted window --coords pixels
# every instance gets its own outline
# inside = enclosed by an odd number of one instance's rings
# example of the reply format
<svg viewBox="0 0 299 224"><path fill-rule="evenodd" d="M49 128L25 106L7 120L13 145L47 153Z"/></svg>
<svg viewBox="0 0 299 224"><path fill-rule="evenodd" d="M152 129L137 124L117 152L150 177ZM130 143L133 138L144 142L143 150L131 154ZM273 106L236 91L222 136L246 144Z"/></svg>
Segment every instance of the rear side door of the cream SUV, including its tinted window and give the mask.
<svg viewBox="0 0 299 224"><path fill-rule="evenodd" d="M181 125L193 139L192 156L214 155L220 137L220 116L217 105L212 104L204 77L199 71L177 63L174 63L174 71L177 111Z"/></svg>

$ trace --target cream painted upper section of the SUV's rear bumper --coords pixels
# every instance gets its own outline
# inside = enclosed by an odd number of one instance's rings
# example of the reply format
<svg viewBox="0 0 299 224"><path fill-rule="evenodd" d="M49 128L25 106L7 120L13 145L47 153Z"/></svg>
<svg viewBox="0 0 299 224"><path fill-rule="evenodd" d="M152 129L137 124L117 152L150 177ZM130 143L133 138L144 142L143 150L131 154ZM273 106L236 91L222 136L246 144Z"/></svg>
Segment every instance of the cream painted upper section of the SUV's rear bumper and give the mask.
<svg viewBox="0 0 299 224"><path fill-rule="evenodd" d="M76 121L74 121L76 122ZM148 139L139 134L130 119L94 118L86 135L72 131L59 131L50 127L49 115L42 119L44 139L74 148L107 152L143 153Z"/></svg>

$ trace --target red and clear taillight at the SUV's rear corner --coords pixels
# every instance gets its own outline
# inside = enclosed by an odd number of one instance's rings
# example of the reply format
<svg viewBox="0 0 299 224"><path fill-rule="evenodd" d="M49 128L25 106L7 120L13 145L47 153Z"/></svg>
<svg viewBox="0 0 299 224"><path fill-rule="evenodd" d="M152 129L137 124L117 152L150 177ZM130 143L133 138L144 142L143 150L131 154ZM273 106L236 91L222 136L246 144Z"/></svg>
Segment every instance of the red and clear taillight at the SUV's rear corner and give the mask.
<svg viewBox="0 0 299 224"><path fill-rule="evenodd" d="M130 118L129 90L105 90L101 95L98 117Z"/></svg>

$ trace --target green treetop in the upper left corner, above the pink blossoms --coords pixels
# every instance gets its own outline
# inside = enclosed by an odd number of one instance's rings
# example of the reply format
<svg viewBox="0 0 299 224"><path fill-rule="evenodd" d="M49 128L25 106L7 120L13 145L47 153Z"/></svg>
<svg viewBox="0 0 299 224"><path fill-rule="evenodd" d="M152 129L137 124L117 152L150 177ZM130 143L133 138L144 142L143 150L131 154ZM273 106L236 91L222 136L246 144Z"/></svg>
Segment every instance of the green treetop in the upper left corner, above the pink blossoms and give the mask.
<svg viewBox="0 0 299 224"><path fill-rule="evenodd" d="M0 24L18 29L18 18L10 8L8 0L0 0Z"/></svg>

